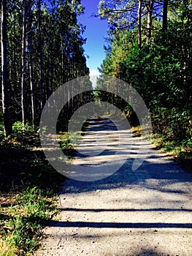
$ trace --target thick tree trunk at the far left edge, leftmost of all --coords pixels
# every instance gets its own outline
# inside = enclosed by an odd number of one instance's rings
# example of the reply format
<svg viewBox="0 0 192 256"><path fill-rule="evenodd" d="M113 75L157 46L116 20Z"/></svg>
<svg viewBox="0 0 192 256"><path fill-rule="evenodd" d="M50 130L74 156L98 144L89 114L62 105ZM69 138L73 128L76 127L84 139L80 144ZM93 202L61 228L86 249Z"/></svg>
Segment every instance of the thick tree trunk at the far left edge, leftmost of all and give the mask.
<svg viewBox="0 0 192 256"><path fill-rule="evenodd" d="M4 135L7 136L12 133L12 124L9 115L7 85L7 0L1 0L1 76Z"/></svg>

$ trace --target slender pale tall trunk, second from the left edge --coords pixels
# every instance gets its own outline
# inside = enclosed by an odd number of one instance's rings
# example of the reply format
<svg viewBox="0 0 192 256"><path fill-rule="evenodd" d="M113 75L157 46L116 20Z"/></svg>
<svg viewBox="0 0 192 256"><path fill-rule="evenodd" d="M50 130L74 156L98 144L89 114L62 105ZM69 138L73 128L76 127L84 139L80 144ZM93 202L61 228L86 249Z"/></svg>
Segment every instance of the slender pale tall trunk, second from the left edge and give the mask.
<svg viewBox="0 0 192 256"><path fill-rule="evenodd" d="M26 19L27 0L23 0L23 35L22 35L22 74L21 74L21 112L23 125L26 123Z"/></svg>

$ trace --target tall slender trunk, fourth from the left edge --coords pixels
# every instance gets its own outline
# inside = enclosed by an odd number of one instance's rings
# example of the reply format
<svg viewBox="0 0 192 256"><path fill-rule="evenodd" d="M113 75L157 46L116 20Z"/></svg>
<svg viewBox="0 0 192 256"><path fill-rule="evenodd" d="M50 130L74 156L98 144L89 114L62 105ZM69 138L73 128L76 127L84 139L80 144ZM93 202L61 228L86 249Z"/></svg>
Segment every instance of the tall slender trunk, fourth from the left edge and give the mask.
<svg viewBox="0 0 192 256"><path fill-rule="evenodd" d="M42 31L41 31L41 0L38 0L38 34L39 34L39 45L38 45L38 51L39 51L39 89L41 94L41 111L42 108L45 105L45 91L43 89L43 56L42 56Z"/></svg>

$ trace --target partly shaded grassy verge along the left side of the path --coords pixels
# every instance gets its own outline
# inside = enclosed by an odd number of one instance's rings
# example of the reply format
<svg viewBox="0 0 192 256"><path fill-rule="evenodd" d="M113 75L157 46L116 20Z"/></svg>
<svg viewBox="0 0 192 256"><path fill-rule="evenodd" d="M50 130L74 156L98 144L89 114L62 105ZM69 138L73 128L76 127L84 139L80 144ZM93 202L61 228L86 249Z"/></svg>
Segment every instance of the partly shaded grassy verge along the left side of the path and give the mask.
<svg viewBox="0 0 192 256"><path fill-rule="evenodd" d="M28 124L22 134L16 123L13 135L0 136L0 255L33 255L42 227L58 213L55 192L64 176L45 159L38 129Z"/></svg>

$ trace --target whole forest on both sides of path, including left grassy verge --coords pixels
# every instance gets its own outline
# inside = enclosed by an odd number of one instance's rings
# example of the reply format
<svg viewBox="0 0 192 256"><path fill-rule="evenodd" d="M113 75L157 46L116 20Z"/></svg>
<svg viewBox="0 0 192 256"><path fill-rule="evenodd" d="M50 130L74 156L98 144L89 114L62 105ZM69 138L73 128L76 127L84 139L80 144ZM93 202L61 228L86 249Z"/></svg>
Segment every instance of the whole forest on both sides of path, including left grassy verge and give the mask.
<svg viewBox="0 0 192 256"><path fill-rule="evenodd" d="M53 91L89 75L85 26L78 22L83 12L80 0L1 0L0 255L32 254L42 226L58 213L55 192L64 177L41 151L39 121ZM87 83L90 94L64 107L61 148L73 157L66 127L83 103L110 102L139 125L110 86L108 94L101 91L102 77L110 76L133 86L145 101L157 148L191 169L191 0L101 0L96 18L109 26L101 75L93 91ZM140 127L134 129L139 133Z"/></svg>

